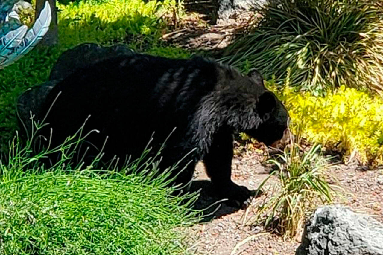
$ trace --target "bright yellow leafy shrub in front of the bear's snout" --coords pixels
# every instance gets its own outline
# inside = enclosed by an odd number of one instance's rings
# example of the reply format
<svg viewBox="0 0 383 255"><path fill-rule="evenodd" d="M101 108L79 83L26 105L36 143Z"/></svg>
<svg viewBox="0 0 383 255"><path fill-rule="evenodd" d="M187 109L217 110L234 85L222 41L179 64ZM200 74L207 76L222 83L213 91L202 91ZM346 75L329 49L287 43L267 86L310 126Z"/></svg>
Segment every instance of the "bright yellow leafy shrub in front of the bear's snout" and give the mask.
<svg viewBox="0 0 383 255"><path fill-rule="evenodd" d="M341 86L326 97L271 87L291 117L290 128L309 142L321 143L362 163L383 163L383 100ZM345 158L344 158L345 159Z"/></svg>

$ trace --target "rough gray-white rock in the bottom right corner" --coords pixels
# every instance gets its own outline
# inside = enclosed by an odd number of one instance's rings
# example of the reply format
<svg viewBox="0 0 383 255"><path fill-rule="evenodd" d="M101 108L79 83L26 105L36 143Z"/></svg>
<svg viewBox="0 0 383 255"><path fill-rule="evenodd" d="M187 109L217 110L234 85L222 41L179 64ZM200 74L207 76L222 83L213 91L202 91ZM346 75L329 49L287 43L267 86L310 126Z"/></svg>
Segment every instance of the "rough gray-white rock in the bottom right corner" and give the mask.
<svg viewBox="0 0 383 255"><path fill-rule="evenodd" d="M343 206L318 208L296 255L383 255L383 224Z"/></svg>

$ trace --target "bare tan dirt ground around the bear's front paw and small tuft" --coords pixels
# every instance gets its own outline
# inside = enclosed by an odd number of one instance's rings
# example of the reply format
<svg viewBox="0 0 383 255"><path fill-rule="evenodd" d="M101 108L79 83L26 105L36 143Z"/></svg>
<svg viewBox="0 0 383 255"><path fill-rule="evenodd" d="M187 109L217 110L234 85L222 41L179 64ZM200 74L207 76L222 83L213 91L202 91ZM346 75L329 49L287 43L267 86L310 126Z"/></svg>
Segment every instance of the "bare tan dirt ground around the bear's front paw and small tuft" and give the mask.
<svg viewBox="0 0 383 255"><path fill-rule="evenodd" d="M261 164L264 155L256 151L242 152L234 156L232 161L232 180L249 189L256 190L260 183L268 176L270 169ZM368 213L383 222L383 172L381 169L365 170L357 164L339 164L331 168L328 177L340 186L342 197L334 203L349 206L354 211ZM271 178L267 185L274 185L276 178ZM267 187L266 185L266 187ZM193 188L202 188L198 206L208 206L215 200L209 190L209 179L202 164L198 164L195 172ZM259 198L255 198L247 209L236 209L224 202L214 213L212 221L191 227L190 234L197 242L192 247L195 254L259 254L259 255L292 255L300 244L301 232L294 240L283 240L278 234L271 234L262 226L254 226L251 219L255 213L255 206L260 199L270 194L266 191ZM214 207L216 208L216 207Z"/></svg>

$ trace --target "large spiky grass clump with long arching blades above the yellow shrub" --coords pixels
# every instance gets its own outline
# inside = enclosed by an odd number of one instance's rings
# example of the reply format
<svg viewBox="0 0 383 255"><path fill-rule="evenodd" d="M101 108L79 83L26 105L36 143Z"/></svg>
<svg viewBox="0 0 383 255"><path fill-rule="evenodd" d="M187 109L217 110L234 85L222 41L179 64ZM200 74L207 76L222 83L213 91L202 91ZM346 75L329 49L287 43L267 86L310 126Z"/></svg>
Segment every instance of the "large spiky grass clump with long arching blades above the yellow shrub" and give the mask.
<svg viewBox="0 0 383 255"><path fill-rule="evenodd" d="M259 11L260 26L221 61L281 85L290 67L291 86L316 93L340 85L383 91L382 1L280 0Z"/></svg>

